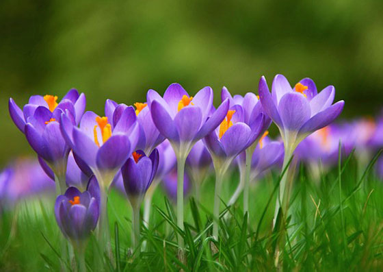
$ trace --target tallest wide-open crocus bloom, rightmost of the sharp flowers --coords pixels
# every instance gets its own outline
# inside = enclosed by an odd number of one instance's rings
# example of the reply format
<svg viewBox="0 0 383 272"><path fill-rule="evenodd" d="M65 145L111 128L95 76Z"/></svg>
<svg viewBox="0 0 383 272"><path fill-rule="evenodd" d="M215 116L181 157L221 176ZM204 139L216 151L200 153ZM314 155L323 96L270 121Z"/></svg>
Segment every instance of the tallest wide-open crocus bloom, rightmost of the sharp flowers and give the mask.
<svg viewBox="0 0 383 272"><path fill-rule="evenodd" d="M286 77L276 75L271 94L265 77L259 81L263 109L280 129L285 148L291 149L289 153L306 136L326 127L341 114L345 102L332 104L334 96L334 86L317 93L315 83L309 78L302 79L291 88Z"/></svg>

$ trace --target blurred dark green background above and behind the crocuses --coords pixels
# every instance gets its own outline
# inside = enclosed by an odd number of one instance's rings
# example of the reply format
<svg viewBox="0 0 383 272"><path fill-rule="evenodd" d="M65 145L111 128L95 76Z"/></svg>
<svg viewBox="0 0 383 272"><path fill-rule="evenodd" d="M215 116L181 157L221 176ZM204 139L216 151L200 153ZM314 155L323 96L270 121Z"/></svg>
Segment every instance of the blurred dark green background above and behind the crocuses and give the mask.
<svg viewBox="0 0 383 272"><path fill-rule="evenodd" d="M15 1L0 3L0 166L32 154L8 114L33 94L132 104L172 82L257 90L276 73L336 87L343 117L382 104L383 1Z"/></svg>

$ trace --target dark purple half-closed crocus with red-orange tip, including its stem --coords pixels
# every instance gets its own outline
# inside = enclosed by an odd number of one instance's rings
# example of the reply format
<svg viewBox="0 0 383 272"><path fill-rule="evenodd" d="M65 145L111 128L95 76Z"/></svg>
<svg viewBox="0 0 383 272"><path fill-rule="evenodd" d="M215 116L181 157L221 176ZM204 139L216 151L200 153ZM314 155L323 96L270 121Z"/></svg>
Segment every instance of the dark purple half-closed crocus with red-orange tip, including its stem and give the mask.
<svg viewBox="0 0 383 272"><path fill-rule="evenodd" d="M153 182L158 169L159 153L154 149L149 157L142 150L133 152L132 158L121 168L125 191L133 208L133 246L137 247L140 241L140 207L146 190Z"/></svg>

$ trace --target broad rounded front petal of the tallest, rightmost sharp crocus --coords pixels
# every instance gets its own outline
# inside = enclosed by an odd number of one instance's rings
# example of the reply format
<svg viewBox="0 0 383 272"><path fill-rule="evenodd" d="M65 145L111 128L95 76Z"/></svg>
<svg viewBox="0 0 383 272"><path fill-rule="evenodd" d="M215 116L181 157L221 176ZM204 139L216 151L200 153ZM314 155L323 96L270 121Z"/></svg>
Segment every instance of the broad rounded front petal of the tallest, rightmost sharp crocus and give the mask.
<svg viewBox="0 0 383 272"><path fill-rule="evenodd" d="M289 131L298 132L300 127L310 119L310 105L304 95L289 92L280 99L278 105L283 127Z"/></svg>

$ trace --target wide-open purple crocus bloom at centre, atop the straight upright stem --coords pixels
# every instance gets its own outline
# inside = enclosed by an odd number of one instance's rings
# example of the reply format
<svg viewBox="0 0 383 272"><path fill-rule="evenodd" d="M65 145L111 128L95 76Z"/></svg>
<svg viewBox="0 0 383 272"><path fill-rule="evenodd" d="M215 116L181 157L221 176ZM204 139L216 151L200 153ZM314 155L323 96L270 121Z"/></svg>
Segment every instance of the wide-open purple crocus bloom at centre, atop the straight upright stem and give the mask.
<svg viewBox="0 0 383 272"><path fill-rule="evenodd" d="M171 84L163 97L155 90L149 90L147 100L157 129L172 143L176 155L185 157L197 140L220 125L228 110L228 101L224 101L210 115L213 107L210 87L189 97L180 84Z"/></svg>

